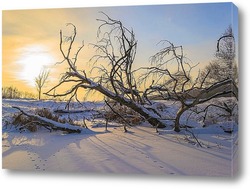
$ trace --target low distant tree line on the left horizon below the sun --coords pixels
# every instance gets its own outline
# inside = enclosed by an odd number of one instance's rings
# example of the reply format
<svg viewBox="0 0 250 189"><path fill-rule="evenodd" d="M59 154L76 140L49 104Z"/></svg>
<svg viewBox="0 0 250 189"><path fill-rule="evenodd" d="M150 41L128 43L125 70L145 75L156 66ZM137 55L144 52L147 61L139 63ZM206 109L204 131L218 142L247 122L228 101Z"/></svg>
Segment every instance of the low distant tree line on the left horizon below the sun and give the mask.
<svg viewBox="0 0 250 189"><path fill-rule="evenodd" d="M20 91L16 87L2 87L2 98L9 99L20 99L20 98L29 98L34 99L35 95L27 91Z"/></svg>

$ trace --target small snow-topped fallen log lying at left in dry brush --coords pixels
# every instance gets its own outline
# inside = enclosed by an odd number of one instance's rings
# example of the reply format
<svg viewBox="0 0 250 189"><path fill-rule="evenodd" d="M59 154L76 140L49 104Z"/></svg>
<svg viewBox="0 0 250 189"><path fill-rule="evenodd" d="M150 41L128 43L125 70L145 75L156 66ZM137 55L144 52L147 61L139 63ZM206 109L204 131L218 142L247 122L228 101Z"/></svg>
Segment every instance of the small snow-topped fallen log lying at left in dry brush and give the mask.
<svg viewBox="0 0 250 189"><path fill-rule="evenodd" d="M26 127L29 127L31 124L42 126L49 131L66 131L67 133L81 133L82 128L79 126L71 125L69 123L60 123L51 119L48 119L46 117L41 117L39 115L31 114L24 112L21 108L12 106L12 108L15 108L20 111L20 114L17 116L17 118L20 118L21 116L26 116L30 118L26 124L20 125L19 129L22 130ZM15 119L17 120L17 119Z"/></svg>

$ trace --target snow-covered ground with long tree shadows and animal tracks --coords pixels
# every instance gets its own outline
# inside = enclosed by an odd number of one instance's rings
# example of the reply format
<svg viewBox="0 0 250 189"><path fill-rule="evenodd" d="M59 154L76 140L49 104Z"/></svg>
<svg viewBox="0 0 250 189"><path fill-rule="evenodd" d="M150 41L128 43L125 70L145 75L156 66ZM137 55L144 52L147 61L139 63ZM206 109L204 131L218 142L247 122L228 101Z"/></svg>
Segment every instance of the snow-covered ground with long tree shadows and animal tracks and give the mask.
<svg viewBox="0 0 250 189"><path fill-rule="evenodd" d="M93 110L103 106L102 103L84 105ZM10 117L18 111L11 106L25 111L37 107L56 110L63 108L65 103L3 100L4 169L200 176L232 176L238 169L238 125L232 121L189 130L202 144L200 147L193 135L185 130L175 133L165 128L156 133L147 123L129 128L127 133L119 124L110 123L106 131L103 120L93 122L93 114L89 111L70 115L79 121L83 117L89 120L89 129L80 134L50 133L48 130L19 133L10 124ZM71 108L83 109L77 104ZM222 128L232 127L232 124L233 133L223 131Z"/></svg>

